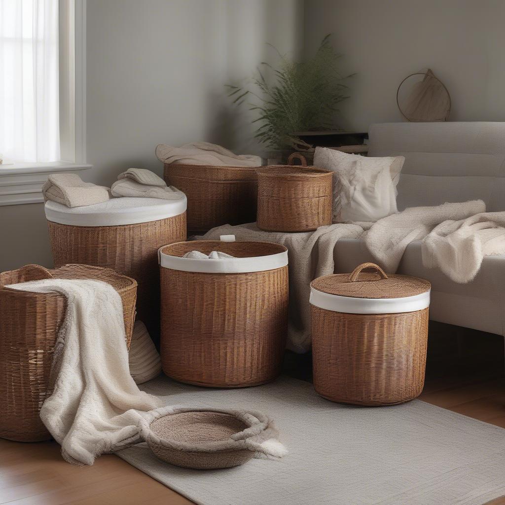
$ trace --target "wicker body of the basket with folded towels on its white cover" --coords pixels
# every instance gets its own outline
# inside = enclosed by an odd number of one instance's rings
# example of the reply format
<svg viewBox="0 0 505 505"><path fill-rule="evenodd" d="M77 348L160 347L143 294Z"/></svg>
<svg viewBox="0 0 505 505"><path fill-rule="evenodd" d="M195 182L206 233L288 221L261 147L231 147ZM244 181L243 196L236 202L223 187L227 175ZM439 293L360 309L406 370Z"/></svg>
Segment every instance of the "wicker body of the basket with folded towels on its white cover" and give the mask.
<svg viewBox="0 0 505 505"><path fill-rule="evenodd" d="M80 263L111 268L138 282L137 318L155 343L160 333L158 249L186 239L186 215L122 226L70 226L47 222L56 268Z"/></svg>

